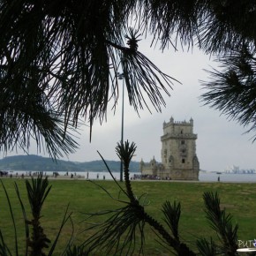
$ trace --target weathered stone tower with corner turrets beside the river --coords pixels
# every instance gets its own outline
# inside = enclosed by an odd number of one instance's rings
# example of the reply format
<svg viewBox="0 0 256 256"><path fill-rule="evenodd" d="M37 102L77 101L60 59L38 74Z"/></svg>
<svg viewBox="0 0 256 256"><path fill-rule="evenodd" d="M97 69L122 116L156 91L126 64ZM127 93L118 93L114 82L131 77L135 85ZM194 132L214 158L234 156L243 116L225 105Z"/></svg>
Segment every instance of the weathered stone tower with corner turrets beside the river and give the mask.
<svg viewBox="0 0 256 256"><path fill-rule="evenodd" d="M142 177L160 179L198 180L200 162L196 154L197 134L193 133L193 120L175 122L173 117L163 123L162 163L155 159L140 162Z"/></svg>

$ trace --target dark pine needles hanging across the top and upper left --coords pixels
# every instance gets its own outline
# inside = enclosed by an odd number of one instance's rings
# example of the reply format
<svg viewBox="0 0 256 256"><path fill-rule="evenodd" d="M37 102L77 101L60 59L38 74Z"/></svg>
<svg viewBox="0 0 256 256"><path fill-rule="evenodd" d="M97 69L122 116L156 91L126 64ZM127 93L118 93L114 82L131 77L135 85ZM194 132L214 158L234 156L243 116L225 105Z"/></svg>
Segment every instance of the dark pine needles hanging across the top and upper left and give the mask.
<svg viewBox="0 0 256 256"><path fill-rule="evenodd" d="M1 1L0 149L26 151L34 138L53 157L73 152L78 145L71 133L81 117L92 128L109 103L115 111L120 73L135 111L161 111L162 94L169 95L176 80L139 52L139 38L147 34L162 50L180 42L207 54L241 56L246 46L253 61L255 10L248 0ZM234 74L232 60L229 66ZM246 99L242 112L251 107Z"/></svg>

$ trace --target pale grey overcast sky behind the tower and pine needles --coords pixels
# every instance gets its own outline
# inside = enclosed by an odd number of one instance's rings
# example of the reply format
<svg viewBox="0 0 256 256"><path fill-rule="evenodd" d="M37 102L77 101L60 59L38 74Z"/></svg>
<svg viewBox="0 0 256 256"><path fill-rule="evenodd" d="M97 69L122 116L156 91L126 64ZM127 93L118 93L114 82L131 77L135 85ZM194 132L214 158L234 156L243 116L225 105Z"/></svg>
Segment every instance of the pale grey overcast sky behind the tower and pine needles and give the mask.
<svg viewBox="0 0 256 256"><path fill-rule="evenodd" d="M152 108L152 114L147 109L137 113L124 102L124 140L129 139L137 145L134 161L149 162L153 157L161 162L162 124L175 121L194 120L194 133L198 134L196 141L200 169L223 171L231 165L240 169L256 169L256 142L252 144L252 133L243 134L246 128L234 121L229 121L218 110L209 109L200 102L203 93L200 80L207 80L210 66L216 66L209 56L203 55L198 49L191 52L174 49L150 49L147 41L141 41L139 50L144 53L162 72L178 79L182 84L174 82L171 96L163 94L166 107L162 113ZM121 86L122 81L120 81ZM125 92L126 93L126 92ZM125 94L124 93L124 94ZM107 123L94 123L92 142L89 142L89 128L83 127L79 139L80 148L76 154L70 154L64 160L88 162L100 159L97 150L106 160L117 160L115 147L121 138L121 109L118 102L117 111L109 111ZM109 106L110 110L110 106ZM36 154L34 147L30 154ZM8 155L13 155L8 154ZM48 156L48 155L45 155Z"/></svg>

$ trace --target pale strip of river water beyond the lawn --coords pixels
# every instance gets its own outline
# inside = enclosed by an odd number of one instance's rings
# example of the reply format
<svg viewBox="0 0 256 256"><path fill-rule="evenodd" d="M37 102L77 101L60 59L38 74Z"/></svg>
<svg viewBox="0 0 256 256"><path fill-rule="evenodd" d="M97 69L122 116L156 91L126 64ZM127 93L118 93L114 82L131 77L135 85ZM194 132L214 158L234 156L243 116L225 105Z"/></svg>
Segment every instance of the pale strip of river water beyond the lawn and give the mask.
<svg viewBox="0 0 256 256"><path fill-rule="evenodd" d="M32 172L32 175L35 172ZM23 170L13 170L9 171L9 175L12 175L12 177L21 177L22 174L28 175L29 172L23 171ZM53 177L52 171L44 172L43 174L46 174L49 177ZM86 172L69 172L68 175L66 172L59 171L58 174L61 177L73 177L73 178L80 178L80 179L92 179L92 180L111 180L112 177L110 176L109 172L95 172L95 171L86 171ZM134 177L134 174L139 175L140 173L131 173L130 177ZM113 177L115 177L117 180L120 179L120 173L119 172L113 172ZM218 182L218 177L220 177L220 182L239 182L239 183L256 183L256 174L227 174L222 173L221 175L218 175L216 173L205 173L200 172L199 180L200 182Z"/></svg>

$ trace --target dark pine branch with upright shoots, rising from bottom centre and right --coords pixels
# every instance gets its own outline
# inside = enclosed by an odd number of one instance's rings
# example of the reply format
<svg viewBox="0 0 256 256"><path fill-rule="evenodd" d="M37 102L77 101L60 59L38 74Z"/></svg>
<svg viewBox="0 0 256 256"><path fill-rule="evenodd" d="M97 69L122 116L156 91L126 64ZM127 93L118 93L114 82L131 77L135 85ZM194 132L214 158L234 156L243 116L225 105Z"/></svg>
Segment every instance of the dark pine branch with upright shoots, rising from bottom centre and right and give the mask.
<svg viewBox="0 0 256 256"><path fill-rule="evenodd" d="M169 252L175 252L179 256L197 255L180 240L178 233L178 223L181 215L180 203L175 201L171 205L169 201L166 201L162 205L163 221L169 227L171 231L169 233L161 222L147 214L145 206L135 197L129 179L129 163L136 150L135 144L126 141L124 144L117 144L116 150L120 160L124 163L125 190L117 182L116 184L127 200L117 199L119 203L124 204L124 207L90 215L90 217L99 215L108 217L104 222L95 223L88 229L96 231L83 244L86 246L87 252L97 252L99 250L99 252L104 252L107 255L111 253L114 253L114 255L132 255L139 243L139 254L143 253L145 227L148 225L154 230L156 237L160 239L160 244L169 248ZM104 188L102 189L107 192ZM109 194L109 192L107 193ZM205 192L203 198L206 205L207 219L210 221L213 230L219 234L221 245L215 245L212 239L207 242L205 238L202 238L196 242L198 250L202 255L211 255L210 253L215 252L229 256L237 255L237 225L233 228L231 215L226 215L226 211L221 210L217 193ZM136 232L139 232L139 242L136 240Z"/></svg>

